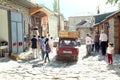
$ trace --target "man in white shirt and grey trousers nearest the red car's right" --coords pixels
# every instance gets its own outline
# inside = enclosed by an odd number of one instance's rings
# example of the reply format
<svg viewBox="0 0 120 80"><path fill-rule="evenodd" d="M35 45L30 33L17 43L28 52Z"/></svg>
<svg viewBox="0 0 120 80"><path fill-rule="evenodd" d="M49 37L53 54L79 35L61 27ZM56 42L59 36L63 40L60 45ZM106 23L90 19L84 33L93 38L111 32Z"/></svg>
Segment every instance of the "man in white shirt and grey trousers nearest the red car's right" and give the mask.
<svg viewBox="0 0 120 80"><path fill-rule="evenodd" d="M92 48L92 39L89 36L89 34L86 35L85 43L86 43L87 55L90 55L91 54L91 48Z"/></svg>

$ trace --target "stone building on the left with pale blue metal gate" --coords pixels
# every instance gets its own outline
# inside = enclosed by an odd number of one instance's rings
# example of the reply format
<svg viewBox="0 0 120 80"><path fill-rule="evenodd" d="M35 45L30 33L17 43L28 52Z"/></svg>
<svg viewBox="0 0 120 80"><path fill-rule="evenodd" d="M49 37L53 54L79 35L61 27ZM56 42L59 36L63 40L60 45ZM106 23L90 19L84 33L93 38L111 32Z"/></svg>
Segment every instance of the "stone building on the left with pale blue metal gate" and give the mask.
<svg viewBox="0 0 120 80"><path fill-rule="evenodd" d="M9 53L23 52L28 46L25 37L31 34L31 27L50 15L49 10L34 1L0 0L0 41L8 42Z"/></svg>

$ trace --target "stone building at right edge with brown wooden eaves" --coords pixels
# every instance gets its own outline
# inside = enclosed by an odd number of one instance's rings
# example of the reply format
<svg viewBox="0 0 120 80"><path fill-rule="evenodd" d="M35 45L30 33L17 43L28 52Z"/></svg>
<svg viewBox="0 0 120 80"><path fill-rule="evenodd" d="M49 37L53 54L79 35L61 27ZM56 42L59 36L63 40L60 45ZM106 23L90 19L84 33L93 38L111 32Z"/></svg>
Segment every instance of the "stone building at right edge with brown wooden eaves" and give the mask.
<svg viewBox="0 0 120 80"><path fill-rule="evenodd" d="M94 30L104 30L108 34L108 39L114 44L115 53L120 53L120 11L116 11L106 16L103 21L94 25Z"/></svg>

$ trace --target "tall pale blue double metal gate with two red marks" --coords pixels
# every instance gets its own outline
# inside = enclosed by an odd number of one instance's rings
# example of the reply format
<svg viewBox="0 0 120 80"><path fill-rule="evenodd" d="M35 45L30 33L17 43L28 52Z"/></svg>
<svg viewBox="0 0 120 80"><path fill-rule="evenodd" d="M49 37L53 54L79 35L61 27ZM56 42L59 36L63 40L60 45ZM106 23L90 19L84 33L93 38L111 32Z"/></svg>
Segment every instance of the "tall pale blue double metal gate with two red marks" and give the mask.
<svg viewBox="0 0 120 80"><path fill-rule="evenodd" d="M22 14L18 12L11 12L11 41L12 53L23 52Z"/></svg>

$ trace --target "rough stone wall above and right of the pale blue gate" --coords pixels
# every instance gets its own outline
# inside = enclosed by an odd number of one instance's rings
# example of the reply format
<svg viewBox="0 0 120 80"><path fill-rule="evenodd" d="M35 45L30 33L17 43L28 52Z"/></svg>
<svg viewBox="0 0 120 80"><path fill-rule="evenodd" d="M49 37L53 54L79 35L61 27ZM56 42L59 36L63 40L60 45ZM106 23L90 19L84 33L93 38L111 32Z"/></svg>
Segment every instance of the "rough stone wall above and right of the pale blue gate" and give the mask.
<svg viewBox="0 0 120 80"><path fill-rule="evenodd" d="M24 34L28 34L28 24L30 24L30 16L29 16L29 9L28 8L23 7L21 5L18 5L16 3L13 3L12 1L7 1L7 0L0 1L0 8L22 13L22 15L23 15L23 27L24 27L23 29L25 30Z"/></svg>

